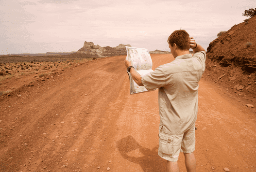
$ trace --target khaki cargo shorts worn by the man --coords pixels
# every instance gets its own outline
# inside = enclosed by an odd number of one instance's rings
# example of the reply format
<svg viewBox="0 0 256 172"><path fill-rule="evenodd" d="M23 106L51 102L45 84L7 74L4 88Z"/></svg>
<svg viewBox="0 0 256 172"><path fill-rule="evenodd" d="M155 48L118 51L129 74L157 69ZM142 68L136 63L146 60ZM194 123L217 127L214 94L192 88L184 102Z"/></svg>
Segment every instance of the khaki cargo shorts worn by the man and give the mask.
<svg viewBox="0 0 256 172"><path fill-rule="evenodd" d="M188 129L181 135L170 135L164 133L161 129L159 132L158 155L161 158L175 162L178 160L180 152L194 152L195 145L195 127Z"/></svg>

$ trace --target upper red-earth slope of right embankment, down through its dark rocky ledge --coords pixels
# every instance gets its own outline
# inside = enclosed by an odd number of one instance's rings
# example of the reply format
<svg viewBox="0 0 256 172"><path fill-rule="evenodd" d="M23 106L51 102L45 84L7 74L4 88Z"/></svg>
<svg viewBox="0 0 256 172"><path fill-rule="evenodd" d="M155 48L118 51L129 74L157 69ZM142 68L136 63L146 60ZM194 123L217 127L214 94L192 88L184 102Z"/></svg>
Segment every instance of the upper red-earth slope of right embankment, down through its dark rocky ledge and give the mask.
<svg viewBox="0 0 256 172"><path fill-rule="evenodd" d="M256 72L256 16L233 26L211 42L207 57L222 67L233 65L248 73Z"/></svg>

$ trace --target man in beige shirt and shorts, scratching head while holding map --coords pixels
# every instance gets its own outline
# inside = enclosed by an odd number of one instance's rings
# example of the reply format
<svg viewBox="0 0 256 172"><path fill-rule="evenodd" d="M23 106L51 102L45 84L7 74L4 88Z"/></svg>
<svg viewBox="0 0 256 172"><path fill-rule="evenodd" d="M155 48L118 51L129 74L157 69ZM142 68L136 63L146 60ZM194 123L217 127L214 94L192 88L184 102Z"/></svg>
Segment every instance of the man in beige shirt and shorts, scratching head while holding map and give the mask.
<svg viewBox="0 0 256 172"><path fill-rule="evenodd" d="M183 152L188 172L196 172L195 121L198 108L198 83L205 71L205 49L195 43L185 30L175 30L168 38L171 63L140 76L131 62L125 60L134 81L146 89L158 89L159 147L158 155L167 160L168 172L179 172L179 153ZM189 53L193 49L194 55Z"/></svg>

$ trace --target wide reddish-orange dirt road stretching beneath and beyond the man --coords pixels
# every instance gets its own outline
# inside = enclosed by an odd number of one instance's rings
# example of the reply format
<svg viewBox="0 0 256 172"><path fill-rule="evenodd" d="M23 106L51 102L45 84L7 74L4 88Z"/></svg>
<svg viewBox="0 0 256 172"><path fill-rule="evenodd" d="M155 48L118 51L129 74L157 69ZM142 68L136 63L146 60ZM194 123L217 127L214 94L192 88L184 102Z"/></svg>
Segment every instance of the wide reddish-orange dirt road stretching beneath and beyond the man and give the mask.
<svg viewBox="0 0 256 172"><path fill-rule="evenodd" d="M130 95L124 59L70 67L2 100L0 172L165 172L158 92ZM174 58L152 59L154 69ZM200 81L197 171L256 172L255 111L223 91Z"/></svg>

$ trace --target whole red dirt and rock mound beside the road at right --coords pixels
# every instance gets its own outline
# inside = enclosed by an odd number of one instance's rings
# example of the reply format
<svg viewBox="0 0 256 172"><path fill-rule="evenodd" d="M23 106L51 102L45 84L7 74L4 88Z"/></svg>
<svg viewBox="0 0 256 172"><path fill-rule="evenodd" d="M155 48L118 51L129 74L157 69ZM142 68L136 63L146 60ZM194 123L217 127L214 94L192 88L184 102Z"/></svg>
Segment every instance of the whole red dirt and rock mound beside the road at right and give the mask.
<svg viewBox="0 0 256 172"><path fill-rule="evenodd" d="M256 95L255 28L256 16L223 32L207 48L205 74L241 96Z"/></svg>

